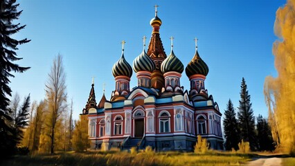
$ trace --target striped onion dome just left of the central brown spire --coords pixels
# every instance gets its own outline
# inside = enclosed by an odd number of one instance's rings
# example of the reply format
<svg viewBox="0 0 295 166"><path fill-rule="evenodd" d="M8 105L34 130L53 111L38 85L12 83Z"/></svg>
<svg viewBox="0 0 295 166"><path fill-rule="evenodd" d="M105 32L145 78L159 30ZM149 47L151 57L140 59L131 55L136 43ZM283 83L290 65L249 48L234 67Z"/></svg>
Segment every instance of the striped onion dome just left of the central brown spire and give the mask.
<svg viewBox="0 0 295 166"><path fill-rule="evenodd" d="M154 68L156 68L154 62L150 57L145 53L145 50L141 53L141 55L138 55L133 61L133 69L137 73L138 71L154 71Z"/></svg>

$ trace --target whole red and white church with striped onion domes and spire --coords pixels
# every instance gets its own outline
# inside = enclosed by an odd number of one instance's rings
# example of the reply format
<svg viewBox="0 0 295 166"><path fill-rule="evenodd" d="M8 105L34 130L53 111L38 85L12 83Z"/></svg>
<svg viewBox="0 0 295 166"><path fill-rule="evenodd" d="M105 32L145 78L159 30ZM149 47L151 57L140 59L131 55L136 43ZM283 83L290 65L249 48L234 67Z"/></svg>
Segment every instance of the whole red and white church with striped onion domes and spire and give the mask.
<svg viewBox="0 0 295 166"><path fill-rule="evenodd" d="M133 67L124 57L122 42L122 55L112 68L116 87L109 100L103 93L97 104L94 83L91 85L82 116L89 120L92 149L150 146L156 151L193 151L198 135L206 138L209 148L223 149L222 113L205 88L209 68L198 53L197 39L195 55L192 53L184 68L173 53L173 44L166 55L159 33L161 24L156 6L147 51L144 47L135 57ZM184 70L189 91L180 82ZM138 84L130 88L133 71Z"/></svg>

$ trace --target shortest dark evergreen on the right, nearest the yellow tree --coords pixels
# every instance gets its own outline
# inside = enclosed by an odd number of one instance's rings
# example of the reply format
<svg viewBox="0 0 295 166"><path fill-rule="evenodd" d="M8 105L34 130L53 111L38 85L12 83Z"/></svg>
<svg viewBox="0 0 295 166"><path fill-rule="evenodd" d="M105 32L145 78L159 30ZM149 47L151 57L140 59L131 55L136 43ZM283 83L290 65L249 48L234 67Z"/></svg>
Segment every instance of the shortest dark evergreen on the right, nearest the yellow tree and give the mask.
<svg viewBox="0 0 295 166"><path fill-rule="evenodd" d="M271 128L269 123L261 115L257 118L257 140L258 149L260 151L273 151L274 150L274 140L271 136Z"/></svg>

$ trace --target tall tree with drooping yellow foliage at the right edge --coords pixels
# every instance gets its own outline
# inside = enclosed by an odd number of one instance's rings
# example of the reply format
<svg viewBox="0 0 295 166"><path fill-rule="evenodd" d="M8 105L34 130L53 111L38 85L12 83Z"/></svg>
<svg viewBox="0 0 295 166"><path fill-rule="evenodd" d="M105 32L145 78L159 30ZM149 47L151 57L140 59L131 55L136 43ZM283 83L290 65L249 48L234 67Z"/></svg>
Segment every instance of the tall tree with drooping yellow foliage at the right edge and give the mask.
<svg viewBox="0 0 295 166"><path fill-rule="evenodd" d="M273 54L278 77L265 78L265 99L269 107L269 124L277 145L287 153L295 153L295 0L287 0L278 8L274 32Z"/></svg>

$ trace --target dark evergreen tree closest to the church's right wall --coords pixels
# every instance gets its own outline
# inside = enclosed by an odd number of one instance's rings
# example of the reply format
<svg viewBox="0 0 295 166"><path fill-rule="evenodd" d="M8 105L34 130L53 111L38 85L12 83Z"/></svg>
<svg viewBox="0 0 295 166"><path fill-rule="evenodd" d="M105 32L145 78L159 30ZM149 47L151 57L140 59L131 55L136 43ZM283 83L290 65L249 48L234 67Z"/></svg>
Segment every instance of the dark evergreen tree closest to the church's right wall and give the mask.
<svg viewBox="0 0 295 166"><path fill-rule="evenodd" d="M226 138L225 149L235 149L235 151L237 151L239 149L238 143L240 142L240 137L238 131L238 121L235 118L235 109L233 108L231 99L229 99L229 102L226 105L226 110L224 111L223 126L224 138Z"/></svg>

